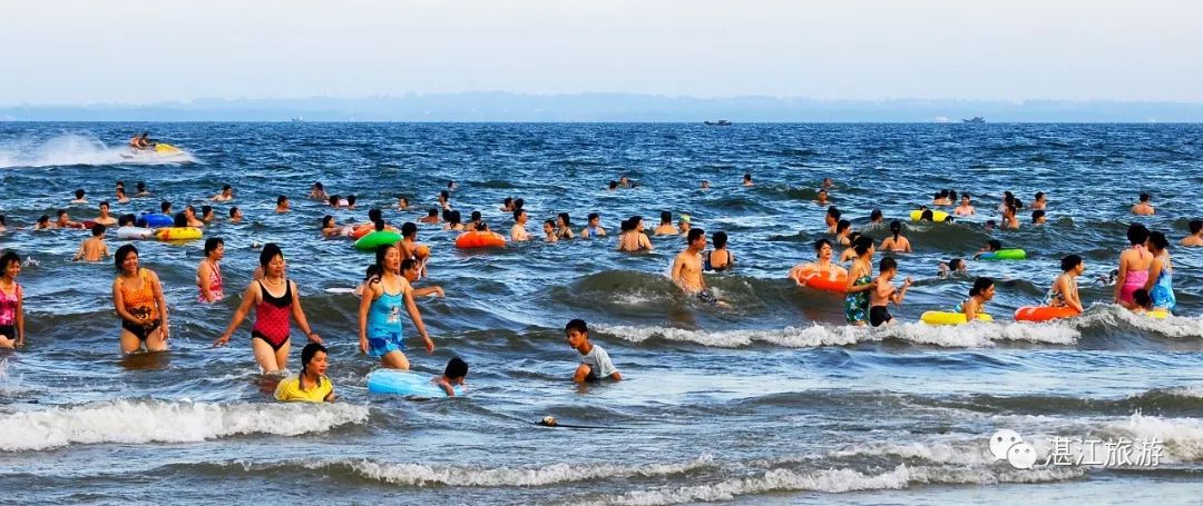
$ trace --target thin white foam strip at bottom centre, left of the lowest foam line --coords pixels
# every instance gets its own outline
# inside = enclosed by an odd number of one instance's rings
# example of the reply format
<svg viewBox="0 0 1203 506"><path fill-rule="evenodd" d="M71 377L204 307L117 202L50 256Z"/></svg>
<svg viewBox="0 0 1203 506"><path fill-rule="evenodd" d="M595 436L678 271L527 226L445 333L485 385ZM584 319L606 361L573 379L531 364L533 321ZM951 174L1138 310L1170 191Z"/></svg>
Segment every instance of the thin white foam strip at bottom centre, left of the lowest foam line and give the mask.
<svg viewBox="0 0 1203 506"><path fill-rule="evenodd" d="M306 468L322 469L349 465L361 476L392 484L425 487L543 487L591 480L629 478L635 476L670 476L713 466L710 457L680 464L551 464L541 468L481 469L468 466L434 466L423 464L379 463L373 460L327 460L304 463Z"/></svg>

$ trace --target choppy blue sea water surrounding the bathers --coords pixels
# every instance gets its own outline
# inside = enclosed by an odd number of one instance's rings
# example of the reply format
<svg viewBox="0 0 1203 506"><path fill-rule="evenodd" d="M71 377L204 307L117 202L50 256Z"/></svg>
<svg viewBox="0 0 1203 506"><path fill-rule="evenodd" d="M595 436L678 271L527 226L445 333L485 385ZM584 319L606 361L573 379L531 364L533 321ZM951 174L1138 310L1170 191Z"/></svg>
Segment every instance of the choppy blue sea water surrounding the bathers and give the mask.
<svg viewBox="0 0 1203 506"><path fill-rule="evenodd" d="M120 147L142 130L185 149L188 161L128 162ZM754 186L740 185L745 172ZM606 191L622 174L639 186ZM786 279L824 236L824 207L812 201L825 177L858 230L875 208L901 218L940 189L973 195L974 219L907 225L915 252L897 257L900 279L917 284L893 310L902 325L847 327L841 297ZM710 190L699 189L703 179ZM172 347L122 357L112 264L69 261L87 233L14 230L58 208L90 219L115 180L131 189L143 180L154 195L114 204L114 214L156 209L160 200L201 206L233 185L247 221L206 231L226 242L226 293L249 282L254 243L280 243L331 349L339 401L272 401L274 380L251 358L249 323L229 347L211 347L238 296L195 302L200 242L137 243L142 264L165 284ZM434 355L409 357L426 373L464 357L469 394L368 394L365 377L377 365L357 350L358 302L337 288L354 287L371 256L321 239L319 220L365 221L381 207L395 225L416 221L448 180L458 184L454 207L480 210L493 228L509 230L498 207L514 196L526 200L537 237L559 212L577 228L599 213L611 236L463 252L452 233L421 227L419 240L433 251L423 282L446 297L420 302ZM19 278L29 346L0 351L0 502L1198 500L1203 254L1171 249L1179 309L1163 321L1107 304L1110 287L1095 279L1115 267L1127 224L1177 245L1203 215L1203 126L8 123L0 124L0 181L10 227L0 248L29 256ZM356 195L360 208L304 198L313 181ZM67 206L77 187L91 204ZM1024 202L1048 194L1049 224L1020 216L1020 231L984 230L1003 190ZM1154 195L1155 216L1128 214L1139 191ZM291 197L292 213L272 212L277 195ZM398 195L410 212L392 208ZM217 204L218 215L229 206ZM699 304L666 279L680 238L653 237L651 254L615 251L621 219L654 225L660 210L730 236L737 267L707 282L731 309ZM997 281L988 305L997 322L917 323L972 284L938 279L937 262L990 238L1030 255L970 266ZM1086 314L1013 322L1015 308L1042 299L1067 254L1086 260ZM562 328L574 317L589 322L624 381L569 381L576 353ZM598 428L535 425L547 415ZM1001 429L1021 434L1039 463L997 460L989 439ZM1057 437L1156 440L1158 463L1042 465Z"/></svg>

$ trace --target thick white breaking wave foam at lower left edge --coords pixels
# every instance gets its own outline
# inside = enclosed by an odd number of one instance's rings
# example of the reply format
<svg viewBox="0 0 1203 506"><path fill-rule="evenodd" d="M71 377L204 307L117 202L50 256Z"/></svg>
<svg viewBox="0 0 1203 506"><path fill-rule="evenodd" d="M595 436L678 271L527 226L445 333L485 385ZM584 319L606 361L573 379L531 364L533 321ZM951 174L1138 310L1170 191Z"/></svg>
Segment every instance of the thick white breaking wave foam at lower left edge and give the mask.
<svg viewBox="0 0 1203 506"><path fill-rule="evenodd" d="M0 415L0 451L38 451L78 444L195 442L238 434L294 436L365 423L368 407L351 404L211 404L118 400Z"/></svg>

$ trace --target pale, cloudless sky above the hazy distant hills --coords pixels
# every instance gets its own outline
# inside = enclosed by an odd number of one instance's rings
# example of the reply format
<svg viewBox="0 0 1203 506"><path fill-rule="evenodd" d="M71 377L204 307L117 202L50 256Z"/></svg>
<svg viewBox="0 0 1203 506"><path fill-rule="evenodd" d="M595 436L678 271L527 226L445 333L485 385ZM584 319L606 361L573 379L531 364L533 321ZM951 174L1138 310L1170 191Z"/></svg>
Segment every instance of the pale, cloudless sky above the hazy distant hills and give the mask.
<svg viewBox="0 0 1203 506"><path fill-rule="evenodd" d="M634 93L1203 102L1203 2L40 0L0 105Z"/></svg>

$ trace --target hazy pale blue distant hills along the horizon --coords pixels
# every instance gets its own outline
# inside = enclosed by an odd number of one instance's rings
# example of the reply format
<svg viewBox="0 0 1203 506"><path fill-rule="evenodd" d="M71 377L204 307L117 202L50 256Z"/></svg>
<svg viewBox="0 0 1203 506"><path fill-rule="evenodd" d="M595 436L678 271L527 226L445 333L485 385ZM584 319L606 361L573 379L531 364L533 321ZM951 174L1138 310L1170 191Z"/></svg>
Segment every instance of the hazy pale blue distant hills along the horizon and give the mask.
<svg viewBox="0 0 1203 506"><path fill-rule="evenodd" d="M198 99L146 105L5 105L0 121L289 123L1203 123L1203 103L1062 100L725 99L463 93L366 99Z"/></svg>

